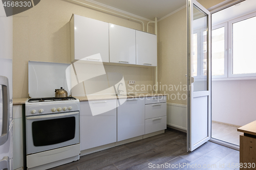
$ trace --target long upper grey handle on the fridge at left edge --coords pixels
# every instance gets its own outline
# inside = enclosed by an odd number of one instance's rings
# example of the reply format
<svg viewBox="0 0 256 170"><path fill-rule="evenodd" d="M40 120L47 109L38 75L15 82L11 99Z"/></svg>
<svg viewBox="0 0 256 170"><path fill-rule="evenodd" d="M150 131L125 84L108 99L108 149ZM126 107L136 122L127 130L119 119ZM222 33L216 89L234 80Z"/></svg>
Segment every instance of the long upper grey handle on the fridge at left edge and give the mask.
<svg viewBox="0 0 256 170"><path fill-rule="evenodd" d="M0 85L2 85L3 95L3 123L2 136L0 136L0 145L3 145L8 140L9 135L10 96L8 78L0 76Z"/></svg>

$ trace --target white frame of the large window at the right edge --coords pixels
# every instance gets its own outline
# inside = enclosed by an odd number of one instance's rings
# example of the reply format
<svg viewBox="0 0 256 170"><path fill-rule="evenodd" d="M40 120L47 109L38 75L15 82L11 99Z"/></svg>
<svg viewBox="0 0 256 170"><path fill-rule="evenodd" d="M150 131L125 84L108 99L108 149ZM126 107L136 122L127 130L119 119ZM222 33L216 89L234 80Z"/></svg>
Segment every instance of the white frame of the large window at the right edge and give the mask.
<svg viewBox="0 0 256 170"><path fill-rule="evenodd" d="M243 21L252 17L256 17L256 12L232 19L228 21L228 78L249 78L255 77L256 73L254 74L233 74L233 23Z"/></svg>

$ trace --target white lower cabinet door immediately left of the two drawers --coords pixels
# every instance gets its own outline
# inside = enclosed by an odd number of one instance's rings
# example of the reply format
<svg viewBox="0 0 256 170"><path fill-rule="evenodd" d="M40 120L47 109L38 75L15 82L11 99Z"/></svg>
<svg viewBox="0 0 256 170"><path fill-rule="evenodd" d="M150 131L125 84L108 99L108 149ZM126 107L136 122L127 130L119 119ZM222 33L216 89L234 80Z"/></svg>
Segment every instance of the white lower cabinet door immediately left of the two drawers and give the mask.
<svg viewBox="0 0 256 170"><path fill-rule="evenodd" d="M123 103L125 99L121 99ZM144 135L145 99L127 99L117 108L117 141Z"/></svg>

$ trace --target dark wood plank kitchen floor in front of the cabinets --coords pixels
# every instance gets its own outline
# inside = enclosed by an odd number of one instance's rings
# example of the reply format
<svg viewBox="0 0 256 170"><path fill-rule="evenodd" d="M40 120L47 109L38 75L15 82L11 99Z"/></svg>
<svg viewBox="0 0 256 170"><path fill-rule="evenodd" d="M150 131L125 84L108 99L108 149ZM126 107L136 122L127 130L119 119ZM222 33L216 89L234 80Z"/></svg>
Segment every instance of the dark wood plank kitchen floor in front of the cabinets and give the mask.
<svg viewBox="0 0 256 170"><path fill-rule="evenodd" d="M152 163L152 164L150 164ZM180 169L179 164L187 163L182 169L193 168L193 165L214 165L200 169L236 169L231 163L239 163L239 151L219 144L206 142L191 153L186 152L186 135L182 132L167 129L164 134L120 145L115 148L81 156L78 161L61 165L51 170L90 170L90 169L154 169L151 165L169 166ZM230 167L228 164L230 163ZM220 168L220 165L225 168ZM172 168L172 165L176 167ZM239 168L237 168L239 169Z"/></svg>

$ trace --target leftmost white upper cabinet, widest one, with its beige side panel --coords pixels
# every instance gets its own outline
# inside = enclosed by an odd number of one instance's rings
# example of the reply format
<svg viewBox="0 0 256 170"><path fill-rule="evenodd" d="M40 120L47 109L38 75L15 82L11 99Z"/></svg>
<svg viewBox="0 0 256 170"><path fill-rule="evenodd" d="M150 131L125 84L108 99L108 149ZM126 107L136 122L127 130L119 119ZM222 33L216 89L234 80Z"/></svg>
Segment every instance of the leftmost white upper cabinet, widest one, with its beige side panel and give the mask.
<svg viewBox="0 0 256 170"><path fill-rule="evenodd" d="M70 33L71 62L81 59L109 62L109 23L73 15Z"/></svg>

